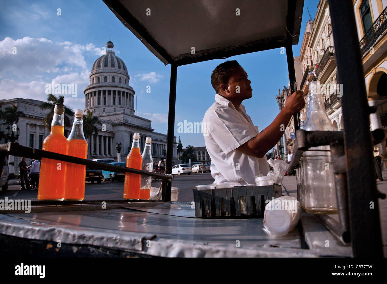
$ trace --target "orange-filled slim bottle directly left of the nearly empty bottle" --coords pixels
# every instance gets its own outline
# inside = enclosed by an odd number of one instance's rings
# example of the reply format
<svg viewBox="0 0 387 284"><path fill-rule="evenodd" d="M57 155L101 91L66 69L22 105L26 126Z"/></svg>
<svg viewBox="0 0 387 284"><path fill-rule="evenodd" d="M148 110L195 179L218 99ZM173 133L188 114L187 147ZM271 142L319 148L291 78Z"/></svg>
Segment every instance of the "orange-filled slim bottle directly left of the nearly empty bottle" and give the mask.
<svg viewBox="0 0 387 284"><path fill-rule="evenodd" d="M134 133L132 149L126 157L126 167L142 169L142 156L139 145L140 134ZM125 184L123 188L124 199L140 199L141 175L137 173L125 173Z"/></svg>

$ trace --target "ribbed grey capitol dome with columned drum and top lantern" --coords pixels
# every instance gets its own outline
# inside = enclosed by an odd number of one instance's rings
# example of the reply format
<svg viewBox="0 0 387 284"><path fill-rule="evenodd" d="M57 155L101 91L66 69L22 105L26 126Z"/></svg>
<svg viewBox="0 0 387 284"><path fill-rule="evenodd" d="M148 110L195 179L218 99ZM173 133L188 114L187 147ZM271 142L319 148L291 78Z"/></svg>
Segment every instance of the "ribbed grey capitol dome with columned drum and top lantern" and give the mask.
<svg viewBox="0 0 387 284"><path fill-rule="evenodd" d="M85 112L134 114L134 90L125 63L114 53L114 44L106 43L105 54L93 64L90 85L85 90Z"/></svg>

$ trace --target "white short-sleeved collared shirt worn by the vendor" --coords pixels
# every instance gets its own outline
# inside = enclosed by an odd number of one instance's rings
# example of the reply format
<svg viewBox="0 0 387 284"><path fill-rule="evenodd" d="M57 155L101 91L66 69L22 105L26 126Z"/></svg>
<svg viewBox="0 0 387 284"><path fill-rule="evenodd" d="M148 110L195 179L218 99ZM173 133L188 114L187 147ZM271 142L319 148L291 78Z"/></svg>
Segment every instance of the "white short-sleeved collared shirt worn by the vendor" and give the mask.
<svg viewBox="0 0 387 284"><path fill-rule="evenodd" d="M259 133L241 104L239 110L225 97L215 95L215 102L205 112L203 135L211 157L211 175L217 182L254 184L255 176L267 175L267 159L248 156L236 150Z"/></svg>

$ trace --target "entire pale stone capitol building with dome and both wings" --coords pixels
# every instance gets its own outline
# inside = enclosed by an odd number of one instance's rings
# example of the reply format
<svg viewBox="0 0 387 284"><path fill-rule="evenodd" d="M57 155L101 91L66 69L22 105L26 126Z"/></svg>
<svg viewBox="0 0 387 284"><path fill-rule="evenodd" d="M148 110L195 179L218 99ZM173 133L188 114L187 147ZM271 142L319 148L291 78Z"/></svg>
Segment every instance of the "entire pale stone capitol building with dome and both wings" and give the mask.
<svg viewBox="0 0 387 284"><path fill-rule="evenodd" d="M140 133L140 150L144 149L145 138L152 138L152 157L154 162L165 158L166 134L154 132L151 121L134 115L134 90L128 85L130 77L125 63L114 54L113 43L106 43L106 53L93 64L90 73L90 85L85 90L85 112L92 111L101 125L96 125L98 133L92 135L88 143L87 158L112 157L117 160L116 143L121 143L121 161L125 161L132 146L133 134ZM66 100L65 100L66 102ZM20 129L19 144L32 148L42 148L48 130L43 119L49 110L41 110L42 101L15 98L0 100L1 109L11 104L26 116L19 117L17 127ZM72 123L73 120L71 120ZM5 132L6 124L0 121L0 131ZM70 134L71 127L65 128L64 134ZM4 143L2 139L0 143ZM165 152L164 152L165 151ZM15 174L19 173L17 164L21 157L15 157ZM176 137L174 137L173 160L177 160ZM30 162L27 159L27 164Z"/></svg>

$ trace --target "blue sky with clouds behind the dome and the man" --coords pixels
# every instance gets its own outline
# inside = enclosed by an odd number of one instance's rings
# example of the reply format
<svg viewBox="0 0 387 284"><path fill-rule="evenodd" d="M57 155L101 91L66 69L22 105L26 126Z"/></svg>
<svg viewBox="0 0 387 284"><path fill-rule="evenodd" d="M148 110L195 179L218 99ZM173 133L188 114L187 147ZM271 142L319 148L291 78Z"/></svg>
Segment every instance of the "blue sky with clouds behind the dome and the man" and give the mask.
<svg viewBox="0 0 387 284"><path fill-rule="evenodd" d="M284 2L287 2L284 0ZM305 0L300 45L309 15L318 0ZM61 9L61 15L57 15ZM170 65L164 66L108 9L103 1L21 1L0 3L0 99L14 97L45 100L45 84L77 83L78 96L65 103L84 109L84 88L94 61L103 54L111 34L117 56L125 62L129 85L135 90L138 115L152 120L152 128L167 132ZM12 48L16 47L16 54ZM243 54L238 60L252 81L253 97L242 102L259 131L279 113L275 96L288 86L286 55L280 49ZM201 133L178 133L178 122L201 122L213 104L212 70L226 60L211 60L178 67L175 136L183 147L205 146ZM151 86L151 93L146 86Z"/></svg>

